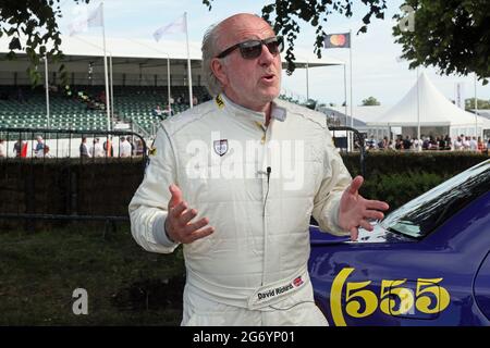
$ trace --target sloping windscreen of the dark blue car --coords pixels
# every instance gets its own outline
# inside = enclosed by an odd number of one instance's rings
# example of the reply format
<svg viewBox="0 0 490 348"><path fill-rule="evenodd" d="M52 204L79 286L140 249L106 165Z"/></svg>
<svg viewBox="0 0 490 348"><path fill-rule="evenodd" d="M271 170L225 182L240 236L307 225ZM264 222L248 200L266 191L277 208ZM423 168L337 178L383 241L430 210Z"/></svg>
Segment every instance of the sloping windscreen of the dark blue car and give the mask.
<svg viewBox="0 0 490 348"><path fill-rule="evenodd" d="M489 190L490 160L487 160L396 209L381 225L395 234L421 239Z"/></svg>

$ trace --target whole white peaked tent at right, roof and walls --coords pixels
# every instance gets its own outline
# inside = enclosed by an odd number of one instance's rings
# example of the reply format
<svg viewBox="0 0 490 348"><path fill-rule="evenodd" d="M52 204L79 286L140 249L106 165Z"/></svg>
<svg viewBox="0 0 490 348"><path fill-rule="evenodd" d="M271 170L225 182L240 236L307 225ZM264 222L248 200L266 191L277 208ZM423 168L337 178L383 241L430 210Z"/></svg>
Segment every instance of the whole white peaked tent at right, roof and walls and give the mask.
<svg viewBox="0 0 490 348"><path fill-rule="evenodd" d="M466 112L448 100L421 73L418 82L405 97L380 117L367 123L372 127L402 127L403 135L481 136L490 124L480 116ZM476 134L475 134L476 133Z"/></svg>

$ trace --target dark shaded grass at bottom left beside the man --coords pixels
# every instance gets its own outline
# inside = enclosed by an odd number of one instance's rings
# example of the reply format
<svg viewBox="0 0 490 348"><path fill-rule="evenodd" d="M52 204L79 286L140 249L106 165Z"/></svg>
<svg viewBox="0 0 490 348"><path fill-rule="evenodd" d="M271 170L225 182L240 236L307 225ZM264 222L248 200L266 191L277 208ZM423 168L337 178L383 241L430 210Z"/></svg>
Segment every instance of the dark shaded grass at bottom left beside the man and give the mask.
<svg viewBox="0 0 490 348"><path fill-rule="evenodd" d="M143 250L128 226L0 233L0 325L179 325L181 250ZM88 314L75 315L75 288Z"/></svg>

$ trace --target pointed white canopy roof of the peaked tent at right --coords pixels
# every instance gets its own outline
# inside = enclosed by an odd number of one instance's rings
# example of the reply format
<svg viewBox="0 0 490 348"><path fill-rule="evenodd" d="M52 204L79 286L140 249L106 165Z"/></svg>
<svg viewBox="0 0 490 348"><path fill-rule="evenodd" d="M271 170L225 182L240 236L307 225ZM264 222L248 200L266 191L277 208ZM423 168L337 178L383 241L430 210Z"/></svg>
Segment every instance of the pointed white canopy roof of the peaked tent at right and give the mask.
<svg viewBox="0 0 490 348"><path fill-rule="evenodd" d="M418 85L418 91L417 91ZM417 103L418 98L418 103ZM417 112L418 109L418 112ZM405 97L380 117L368 122L368 126L483 126L487 122L480 116L457 108L448 100L421 73L418 82Z"/></svg>

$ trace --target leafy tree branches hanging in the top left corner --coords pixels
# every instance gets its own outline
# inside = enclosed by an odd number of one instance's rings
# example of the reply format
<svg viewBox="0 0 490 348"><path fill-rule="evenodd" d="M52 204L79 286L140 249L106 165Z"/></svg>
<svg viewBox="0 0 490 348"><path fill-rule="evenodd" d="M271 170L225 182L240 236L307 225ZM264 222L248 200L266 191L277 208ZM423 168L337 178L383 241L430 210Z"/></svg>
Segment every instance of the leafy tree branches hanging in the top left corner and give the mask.
<svg viewBox="0 0 490 348"><path fill-rule="evenodd" d="M73 0L76 3L89 0ZM61 17L60 0L1 0L0 1L0 37L10 37L10 52L7 58L15 59L14 50L25 50L30 65L27 73L36 85L40 79L37 71L40 58L47 55L54 62L63 55L60 50L61 38L57 17ZM21 35L25 36L25 46L21 42ZM48 46L52 45L50 49ZM65 78L64 66L61 65L60 77Z"/></svg>

